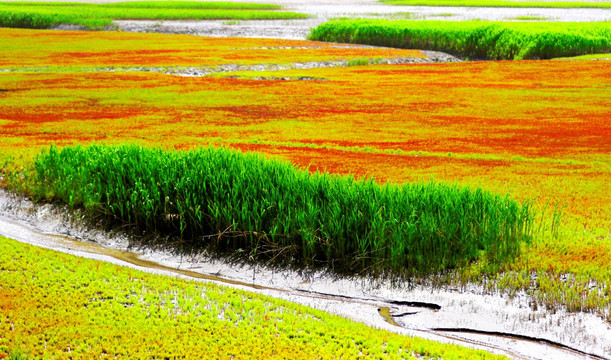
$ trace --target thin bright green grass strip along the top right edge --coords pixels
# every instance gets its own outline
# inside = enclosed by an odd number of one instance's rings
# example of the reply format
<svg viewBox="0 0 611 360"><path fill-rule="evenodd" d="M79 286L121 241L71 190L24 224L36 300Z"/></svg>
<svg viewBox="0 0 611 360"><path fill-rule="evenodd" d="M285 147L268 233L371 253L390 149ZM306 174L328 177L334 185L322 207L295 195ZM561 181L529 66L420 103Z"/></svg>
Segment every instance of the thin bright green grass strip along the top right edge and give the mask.
<svg viewBox="0 0 611 360"><path fill-rule="evenodd" d="M510 8L611 8L609 2L594 1L521 1L521 0L380 0L391 5L460 6Z"/></svg>

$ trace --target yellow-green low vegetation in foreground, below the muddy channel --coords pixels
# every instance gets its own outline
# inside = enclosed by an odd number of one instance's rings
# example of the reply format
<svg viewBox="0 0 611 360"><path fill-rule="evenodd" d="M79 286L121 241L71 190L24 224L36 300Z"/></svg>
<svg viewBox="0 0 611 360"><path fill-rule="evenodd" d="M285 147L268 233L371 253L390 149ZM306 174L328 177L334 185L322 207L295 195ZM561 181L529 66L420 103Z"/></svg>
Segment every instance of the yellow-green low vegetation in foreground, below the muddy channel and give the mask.
<svg viewBox="0 0 611 360"><path fill-rule="evenodd" d="M2 237L0 278L0 358L501 358Z"/></svg>

